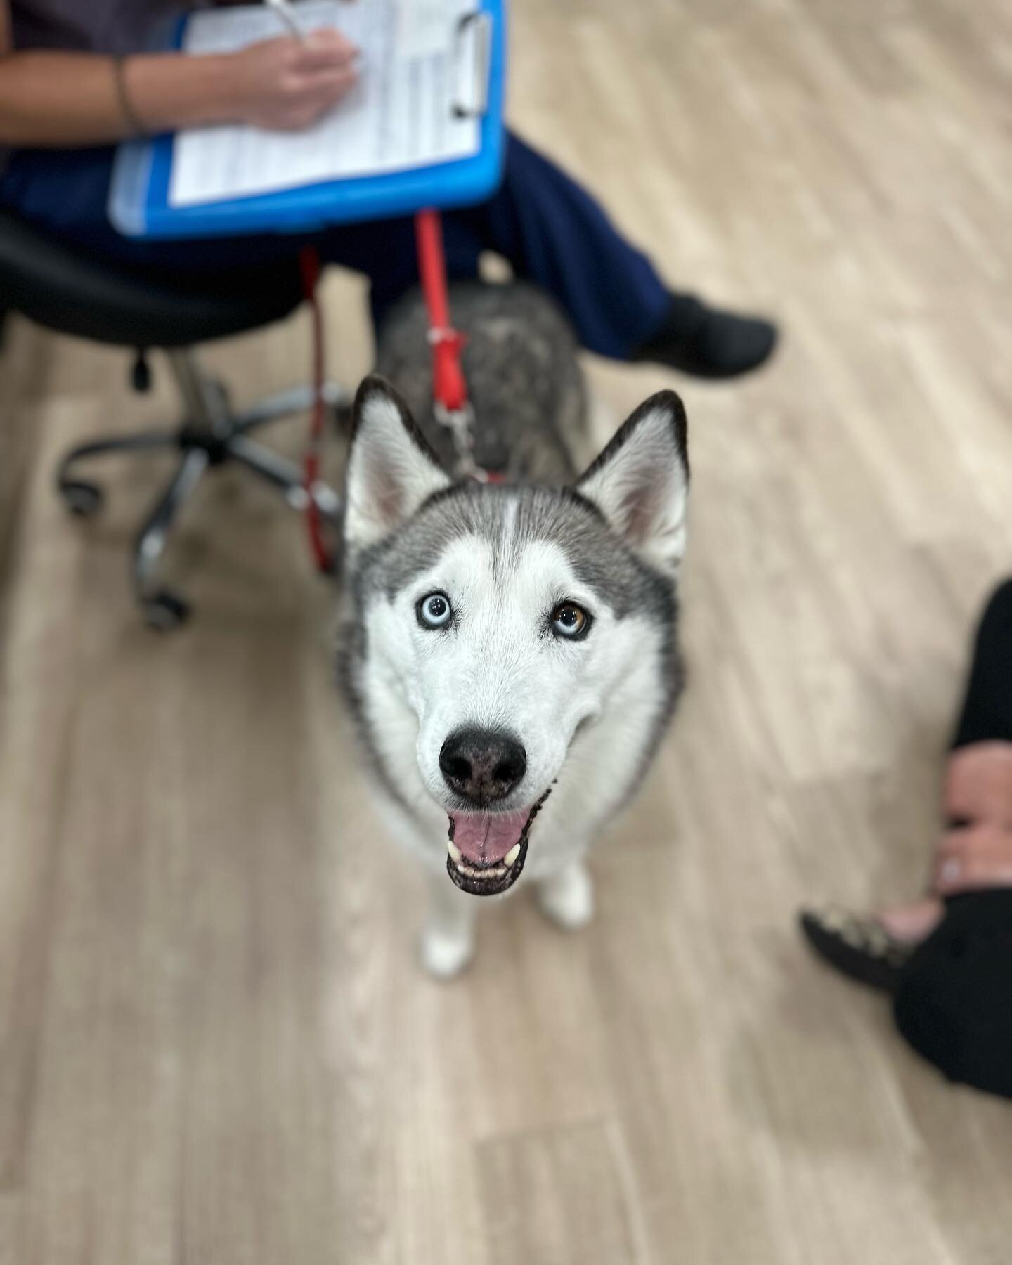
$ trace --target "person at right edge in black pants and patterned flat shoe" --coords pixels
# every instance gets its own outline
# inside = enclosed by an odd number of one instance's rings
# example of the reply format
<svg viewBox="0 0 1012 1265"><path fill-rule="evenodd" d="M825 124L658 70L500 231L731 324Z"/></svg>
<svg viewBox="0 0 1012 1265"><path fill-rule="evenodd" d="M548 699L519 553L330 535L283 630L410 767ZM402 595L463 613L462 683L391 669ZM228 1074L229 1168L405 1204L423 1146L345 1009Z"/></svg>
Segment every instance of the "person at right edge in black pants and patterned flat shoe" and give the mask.
<svg viewBox="0 0 1012 1265"><path fill-rule="evenodd" d="M901 1034L949 1079L1012 1097L1012 579L977 629L944 798L931 897L807 911L802 929L837 970L892 994Z"/></svg>

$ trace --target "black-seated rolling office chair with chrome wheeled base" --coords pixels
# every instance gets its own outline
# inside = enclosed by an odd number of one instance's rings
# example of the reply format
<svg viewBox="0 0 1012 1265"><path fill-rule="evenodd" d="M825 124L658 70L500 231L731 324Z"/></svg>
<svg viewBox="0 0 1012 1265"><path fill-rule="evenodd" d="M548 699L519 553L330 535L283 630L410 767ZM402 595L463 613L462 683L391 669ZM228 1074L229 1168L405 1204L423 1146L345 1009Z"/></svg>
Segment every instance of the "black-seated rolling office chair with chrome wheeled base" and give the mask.
<svg viewBox="0 0 1012 1265"><path fill-rule="evenodd" d="M302 471L250 439L258 426L311 407L314 393L296 387L234 414L223 385L206 376L194 348L281 320L302 301L297 262L242 273L168 280L99 263L0 210L0 304L63 334L137 352L133 385L148 386L147 353L163 350L182 398L176 429L113 435L67 453L57 487L73 514L101 509L102 491L82 478L78 463L106 453L177 449L178 466L142 524L133 549L133 584L145 620L168 630L188 615L187 603L157 582L158 562L183 502L206 471L234 460L278 488L296 510L306 509ZM329 406L347 395L329 383ZM339 500L326 484L311 495L321 515L335 520Z"/></svg>

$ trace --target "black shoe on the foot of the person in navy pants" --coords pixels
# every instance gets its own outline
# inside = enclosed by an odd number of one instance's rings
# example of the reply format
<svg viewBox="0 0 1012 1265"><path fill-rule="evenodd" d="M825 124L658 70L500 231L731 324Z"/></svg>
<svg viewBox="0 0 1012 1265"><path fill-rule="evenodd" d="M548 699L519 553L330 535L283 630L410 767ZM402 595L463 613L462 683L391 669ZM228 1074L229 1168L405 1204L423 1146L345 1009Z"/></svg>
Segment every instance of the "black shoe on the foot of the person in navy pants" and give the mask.
<svg viewBox="0 0 1012 1265"><path fill-rule="evenodd" d="M634 353L697 378L734 378L758 369L777 345L777 326L759 316L707 307L692 295L672 295L664 324Z"/></svg>

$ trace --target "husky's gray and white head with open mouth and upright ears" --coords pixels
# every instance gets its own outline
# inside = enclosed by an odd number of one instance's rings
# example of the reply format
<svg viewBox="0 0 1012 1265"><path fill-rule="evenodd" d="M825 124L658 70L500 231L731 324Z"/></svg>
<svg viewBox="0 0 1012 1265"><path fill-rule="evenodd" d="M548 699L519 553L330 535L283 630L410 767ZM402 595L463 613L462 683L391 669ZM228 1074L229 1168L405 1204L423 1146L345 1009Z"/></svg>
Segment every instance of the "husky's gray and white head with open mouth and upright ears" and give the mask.
<svg viewBox="0 0 1012 1265"><path fill-rule="evenodd" d="M673 392L638 409L576 488L555 490L453 484L392 390L359 390L345 545L383 683L367 721L381 751L385 726L411 726L458 887L512 885L577 735L638 660L669 653L687 492Z"/></svg>

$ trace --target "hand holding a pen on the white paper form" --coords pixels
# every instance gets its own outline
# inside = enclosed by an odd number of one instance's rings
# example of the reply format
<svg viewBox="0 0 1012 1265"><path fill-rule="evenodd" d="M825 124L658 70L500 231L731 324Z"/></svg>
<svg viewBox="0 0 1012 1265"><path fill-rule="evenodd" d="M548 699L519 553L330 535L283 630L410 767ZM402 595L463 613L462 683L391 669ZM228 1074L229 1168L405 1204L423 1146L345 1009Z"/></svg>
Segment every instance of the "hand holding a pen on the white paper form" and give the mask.
<svg viewBox="0 0 1012 1265"><path fill-rule="evenodd" d="M283 35L231 53L226 73L237 121L285 132L310 126L354 86L357 53L329 28L305 42Z"/></svg>

